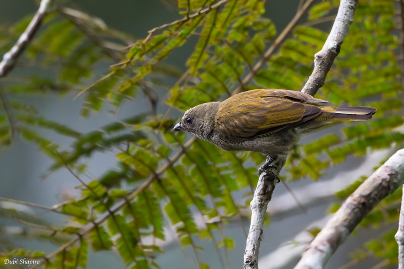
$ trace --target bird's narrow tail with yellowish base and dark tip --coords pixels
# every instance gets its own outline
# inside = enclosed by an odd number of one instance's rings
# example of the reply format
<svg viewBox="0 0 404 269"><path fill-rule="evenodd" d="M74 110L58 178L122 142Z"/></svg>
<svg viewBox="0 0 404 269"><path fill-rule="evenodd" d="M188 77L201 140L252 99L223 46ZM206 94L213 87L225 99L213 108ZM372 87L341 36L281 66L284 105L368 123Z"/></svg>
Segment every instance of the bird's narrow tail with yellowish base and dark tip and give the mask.
<svg viewBox="0 0 404 269"><path fill-rule="evenodd" d="M321 107L323 113L320 115L322 121L340 122L340 121L366 121L372 119L376 109L371 106L355 107Z"/></svg>

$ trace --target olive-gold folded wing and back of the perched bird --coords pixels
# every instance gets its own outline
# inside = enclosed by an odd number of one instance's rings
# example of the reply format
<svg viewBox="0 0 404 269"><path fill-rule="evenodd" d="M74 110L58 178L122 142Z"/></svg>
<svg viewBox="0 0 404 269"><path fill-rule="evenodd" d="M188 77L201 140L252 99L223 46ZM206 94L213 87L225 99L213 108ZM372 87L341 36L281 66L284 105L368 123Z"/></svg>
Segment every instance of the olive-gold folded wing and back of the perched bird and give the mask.
<svg viewBox="0 0 404 269"><path fill-rule="evenodd" d="M321 108L309 103L320 101L298 91L246 91L221 102L215 130L229 142L266 136L317 117Z"/></svg>

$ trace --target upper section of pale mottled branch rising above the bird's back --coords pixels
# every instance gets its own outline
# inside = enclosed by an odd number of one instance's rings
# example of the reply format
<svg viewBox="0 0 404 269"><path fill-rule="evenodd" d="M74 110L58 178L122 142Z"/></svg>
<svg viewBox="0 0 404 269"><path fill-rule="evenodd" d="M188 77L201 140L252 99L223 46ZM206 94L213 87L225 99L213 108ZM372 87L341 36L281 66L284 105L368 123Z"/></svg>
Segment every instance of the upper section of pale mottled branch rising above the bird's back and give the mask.
<svg viewBox="0 0 404 269"><path fill-rule="evenodd" d="M341 49L349 25L354 21L357 3L358 0L341 0L331 32L323 48L314 56L314 70L302 92L314 95L324 85L325 77Z"/></svg>

